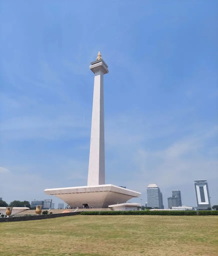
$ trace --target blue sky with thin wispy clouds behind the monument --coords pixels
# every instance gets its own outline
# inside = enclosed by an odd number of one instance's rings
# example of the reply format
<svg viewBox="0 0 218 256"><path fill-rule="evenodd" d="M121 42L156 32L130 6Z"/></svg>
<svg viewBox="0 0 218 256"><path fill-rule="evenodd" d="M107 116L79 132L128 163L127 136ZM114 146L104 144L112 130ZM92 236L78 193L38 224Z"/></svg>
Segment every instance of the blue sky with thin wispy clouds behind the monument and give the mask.
<svg viewBox="0 0 218 256"><path fill-rule="evenodd" d="M1 1L0 196L87 184L94 76L104 76L108 184L218 203L216 1ZM52 197L56 203L61 200Z"/></svg>

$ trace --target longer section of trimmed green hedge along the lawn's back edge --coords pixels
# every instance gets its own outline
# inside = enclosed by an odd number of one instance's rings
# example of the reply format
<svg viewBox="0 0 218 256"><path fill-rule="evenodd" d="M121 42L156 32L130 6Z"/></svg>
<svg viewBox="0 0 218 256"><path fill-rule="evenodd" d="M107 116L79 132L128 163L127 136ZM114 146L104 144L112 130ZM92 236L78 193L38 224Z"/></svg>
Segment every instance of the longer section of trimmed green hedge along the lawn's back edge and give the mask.
<svg viewBox="0 0 218 256"><path fill-rule="evenodd" d="M81 215L197 215L196 211L82 211Z"/></svg>

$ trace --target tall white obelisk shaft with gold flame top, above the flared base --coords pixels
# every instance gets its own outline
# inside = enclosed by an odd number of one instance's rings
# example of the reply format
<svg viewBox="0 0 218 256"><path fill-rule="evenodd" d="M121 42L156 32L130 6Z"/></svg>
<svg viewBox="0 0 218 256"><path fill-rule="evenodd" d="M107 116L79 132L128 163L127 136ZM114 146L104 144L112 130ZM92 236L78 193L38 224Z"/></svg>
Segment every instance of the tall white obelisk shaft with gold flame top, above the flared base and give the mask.
<svg viewBox="0 0 218 256"><path fill-rule="evenodd" d="M90 69L95 74L92 106L92 128L89 154L88 186L105 184L104 157L104 74L107 65L100 52L96 61L91 62Z"/></svg>

